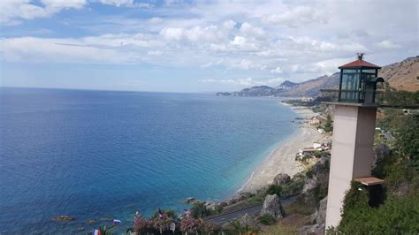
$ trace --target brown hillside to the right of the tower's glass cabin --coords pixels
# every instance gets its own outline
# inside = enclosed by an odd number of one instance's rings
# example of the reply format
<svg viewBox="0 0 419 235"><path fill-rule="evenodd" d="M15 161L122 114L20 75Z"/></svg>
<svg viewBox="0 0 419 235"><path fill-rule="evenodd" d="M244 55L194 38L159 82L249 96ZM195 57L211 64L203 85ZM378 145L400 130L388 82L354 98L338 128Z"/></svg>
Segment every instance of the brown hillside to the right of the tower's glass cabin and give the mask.
<svg viewBox="0 0 419 235"><path fill-rule="evenodd" d="M419 56L384 66L378 76L398 90L419 90Z"/></svg>

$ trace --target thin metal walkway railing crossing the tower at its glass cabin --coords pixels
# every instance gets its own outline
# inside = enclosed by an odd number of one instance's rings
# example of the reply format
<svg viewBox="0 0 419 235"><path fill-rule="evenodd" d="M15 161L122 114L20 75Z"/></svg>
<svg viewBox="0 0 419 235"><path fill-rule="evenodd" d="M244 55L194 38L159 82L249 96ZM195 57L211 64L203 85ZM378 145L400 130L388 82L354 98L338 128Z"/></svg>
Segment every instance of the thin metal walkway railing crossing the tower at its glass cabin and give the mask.
<svg viewBox="0 0 419 235"><path fill-rule="evenodd" d="M339 90L321 89L324 102L354 102L377 104L380 106L418 109L419 92L394 91L394 90Z"/></svg>

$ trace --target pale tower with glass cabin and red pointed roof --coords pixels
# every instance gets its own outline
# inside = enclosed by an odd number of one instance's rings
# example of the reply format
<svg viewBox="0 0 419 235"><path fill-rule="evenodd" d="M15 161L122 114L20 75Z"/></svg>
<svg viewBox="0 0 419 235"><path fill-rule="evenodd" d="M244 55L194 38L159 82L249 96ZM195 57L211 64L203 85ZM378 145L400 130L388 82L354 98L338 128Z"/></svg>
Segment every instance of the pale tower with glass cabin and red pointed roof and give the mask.
<svg viewBox="0 0 419 235"><path fill-rule="evenodd" d="M352 180L366 186L384 182L371 177L377 82L384 81L377 78L380 67L364 61L360 54L357 60L339 69L339 90L333 95L336 99L324 102L335 106L326 228L339 225L345 193Z"/></svg>

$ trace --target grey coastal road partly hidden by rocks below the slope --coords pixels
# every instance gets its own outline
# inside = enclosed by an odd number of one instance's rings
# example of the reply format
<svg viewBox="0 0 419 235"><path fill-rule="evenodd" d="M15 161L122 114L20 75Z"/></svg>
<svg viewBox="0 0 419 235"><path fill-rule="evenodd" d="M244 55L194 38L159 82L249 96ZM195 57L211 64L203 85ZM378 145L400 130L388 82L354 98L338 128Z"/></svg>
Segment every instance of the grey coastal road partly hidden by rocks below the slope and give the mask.
<svg viewBox="0 0 419 235"><path fill-rule="evenodd" d="M285 199L281 199L281 203L282 205L286 205L286 204L290 204L293 201L295 201L295 199L297 198L298 195L295 196L291 196ZM261 212L262 210L262 204L254 206L254 207L249 207L249 208L243 208L228 214L222 214L219 216L214 216L214 217L210 217L208 219L204 219L205 222L212 222L214 224L218 224L218 225L222 225L225 224L226 222L232 221L234 219L238 219L246 214L248 214L248 216L250 215L254 215L256 213Z"/></svg>

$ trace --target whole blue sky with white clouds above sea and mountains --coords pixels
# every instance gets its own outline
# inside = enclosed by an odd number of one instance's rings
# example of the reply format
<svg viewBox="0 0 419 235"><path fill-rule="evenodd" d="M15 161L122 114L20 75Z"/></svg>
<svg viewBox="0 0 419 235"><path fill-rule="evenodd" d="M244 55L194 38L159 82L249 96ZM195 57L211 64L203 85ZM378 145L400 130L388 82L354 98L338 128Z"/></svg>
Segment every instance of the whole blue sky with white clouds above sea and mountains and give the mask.
<svg viewBox="0 0 419 235"><path fill-rule="evenodd" d="M417 0L2 0L0 86L235 91L419 55Z"/></svg>

